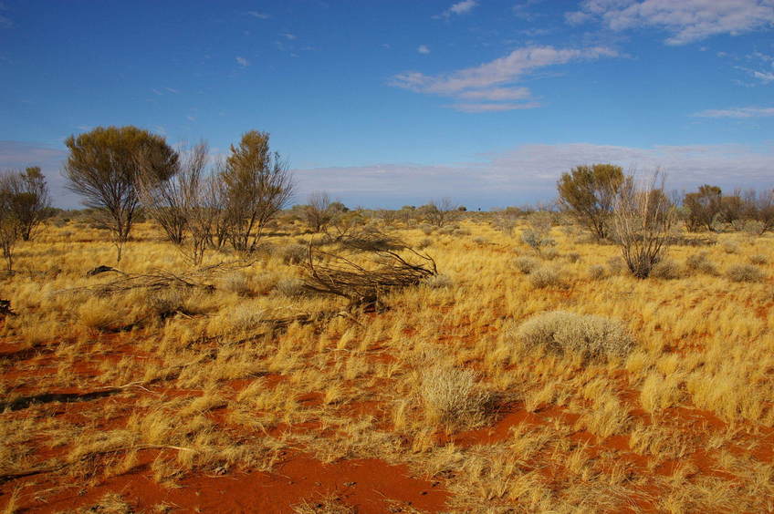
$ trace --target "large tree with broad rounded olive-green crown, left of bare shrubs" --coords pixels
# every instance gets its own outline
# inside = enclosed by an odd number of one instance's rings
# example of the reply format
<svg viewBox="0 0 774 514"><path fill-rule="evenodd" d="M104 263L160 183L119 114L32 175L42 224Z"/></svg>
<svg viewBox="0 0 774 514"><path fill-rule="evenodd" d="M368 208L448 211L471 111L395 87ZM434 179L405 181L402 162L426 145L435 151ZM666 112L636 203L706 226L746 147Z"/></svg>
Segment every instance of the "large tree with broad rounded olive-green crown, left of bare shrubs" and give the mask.
<svg viewBox="0 0 774 514"><path fill-rule="evenodd" d="M169 180L177 153L156 134L136 127L98 127L70 136L65 163L68 189L83 197L101 226L112 233L120 262L123 245L140 209L138 177Z"/></svg>

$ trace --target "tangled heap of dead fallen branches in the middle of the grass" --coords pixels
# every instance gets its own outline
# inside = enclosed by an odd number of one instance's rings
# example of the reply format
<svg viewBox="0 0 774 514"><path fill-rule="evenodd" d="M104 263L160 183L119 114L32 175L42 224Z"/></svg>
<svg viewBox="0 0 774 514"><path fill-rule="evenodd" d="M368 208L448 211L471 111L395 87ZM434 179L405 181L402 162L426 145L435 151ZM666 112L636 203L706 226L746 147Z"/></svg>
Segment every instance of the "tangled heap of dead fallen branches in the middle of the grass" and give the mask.
<svg viewBox="0 0 774 514"><path fill-rule="evenodd" d="M342 239L336 253L309 245L301 266L309 291L346 298L349 309L379 308L385 293L438 274L432 257L380 232Z"/></svg>

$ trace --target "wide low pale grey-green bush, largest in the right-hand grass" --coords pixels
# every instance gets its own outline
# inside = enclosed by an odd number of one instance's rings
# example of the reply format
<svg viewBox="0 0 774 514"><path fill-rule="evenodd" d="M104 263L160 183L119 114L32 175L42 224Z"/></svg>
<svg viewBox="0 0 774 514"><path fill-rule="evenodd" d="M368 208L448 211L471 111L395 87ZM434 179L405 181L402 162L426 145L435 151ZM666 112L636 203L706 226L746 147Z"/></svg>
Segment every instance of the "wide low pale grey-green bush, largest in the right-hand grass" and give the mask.
<svg viewBox="0 0 774 514"><path fill-rule="evenodd" d="M516 338L527 348L580 353L587 358L625 356L634 346L621 322L592 314L552 311L535 315L521 324Z"/></svg>

